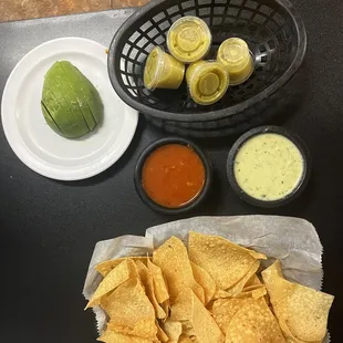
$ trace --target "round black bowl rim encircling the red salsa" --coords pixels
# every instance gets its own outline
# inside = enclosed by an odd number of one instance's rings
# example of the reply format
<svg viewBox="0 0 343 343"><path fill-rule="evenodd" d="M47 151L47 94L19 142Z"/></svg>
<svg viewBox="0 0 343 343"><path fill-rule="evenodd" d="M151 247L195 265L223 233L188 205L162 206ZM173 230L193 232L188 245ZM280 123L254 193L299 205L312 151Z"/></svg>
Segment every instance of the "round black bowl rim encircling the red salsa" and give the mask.
<svg viewBox="0 0 343 343"><path fill-rule="evenodd" d="M202 190L193 200L190 200L186 205L177 207L177 208L164 207L164 206L158 205L154 200L152 200L148 197L148 195L145 193L145 189L143 188L143 184L142 184L142 168L144 166L146 158L156 148L158 148L163 145L168 145L168 144L181 144L181 145L189 146L200 157L200 159L204 164L204 167L205 167L205 185L202 187ZM150 145L148 145L142 152L142 154L139 155L139 157L137 159L134 178L135 178L136 190L137 190L141 199L143 200L143 202L145 202L152 209L154 209L155 211L158 211L160 214L179 215L179 214L184 214L184 212L193 210L195 207L197 207L205 199L205 197L207 196L207 194L209 191L209 187L210 187L210 184L212 180L212 168L211 168L210 162L207 159L207 157L205 156L202 150L197 145L195 145L194 143L191 143L188 139L178 138L178 137L168 137L168 138L163 138L163 139L158 139L158 141L153 142Z"/></svg>

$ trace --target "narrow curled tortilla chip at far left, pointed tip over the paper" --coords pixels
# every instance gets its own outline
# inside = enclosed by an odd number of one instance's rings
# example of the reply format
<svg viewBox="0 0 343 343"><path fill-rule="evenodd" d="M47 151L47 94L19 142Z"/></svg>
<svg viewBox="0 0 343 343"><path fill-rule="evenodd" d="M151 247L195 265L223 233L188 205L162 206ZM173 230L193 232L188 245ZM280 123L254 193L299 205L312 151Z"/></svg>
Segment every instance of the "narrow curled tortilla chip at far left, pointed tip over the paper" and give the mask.
<svg viewBox="0 0 343 343"><path fill-rule="evenodd" d="M137 268L133 260L125 259L104 278L85 309L98 305L104 295L131 278L138 278Z"/></svg>

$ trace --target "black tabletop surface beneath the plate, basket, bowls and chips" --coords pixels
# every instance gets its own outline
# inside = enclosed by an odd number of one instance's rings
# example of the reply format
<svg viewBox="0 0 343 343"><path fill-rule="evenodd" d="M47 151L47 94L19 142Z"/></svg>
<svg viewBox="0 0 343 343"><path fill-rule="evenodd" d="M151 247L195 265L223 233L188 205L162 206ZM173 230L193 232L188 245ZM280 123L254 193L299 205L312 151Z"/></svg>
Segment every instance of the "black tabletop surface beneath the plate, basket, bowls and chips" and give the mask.
<svg viewBox="0 0 343 343"><path fill-rule="evenodd" d="M304 64L292 81L302 95L277 122L308 144L313 174L295 202L262 210L229 188L225 165L231 138L198 142L211 158L211 198L188 215L277 214L314 224L324 247L324 291L336 295L329 329L342 336L343 316L343 3L298 0L308 30ZM0 24L0 91L15 63L38 44L66 35L110 44L133 10ZM27 168L0 131L1 342L95 342L91 311L81 292L94 243L178 219L149 210L138 199L133 170L137 155L165 134L139 119L133 143L107 172L84 181L60 183ZM187 217L187 216L184 216Z"/></svg>

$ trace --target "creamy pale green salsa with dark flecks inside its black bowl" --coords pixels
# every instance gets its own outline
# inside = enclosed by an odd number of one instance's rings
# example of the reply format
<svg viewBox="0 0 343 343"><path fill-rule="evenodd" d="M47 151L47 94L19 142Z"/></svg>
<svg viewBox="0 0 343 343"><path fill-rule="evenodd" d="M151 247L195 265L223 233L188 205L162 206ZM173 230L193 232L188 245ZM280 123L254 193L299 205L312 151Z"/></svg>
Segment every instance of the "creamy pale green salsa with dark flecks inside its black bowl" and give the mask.
<svg viewBox="0 0 343 343"><path fill-rule="evenodd" d="M279 200L290 195L303 174L303 156L289 138L272 133L248 139L238 150L233 173L249 196Z"/></svg>

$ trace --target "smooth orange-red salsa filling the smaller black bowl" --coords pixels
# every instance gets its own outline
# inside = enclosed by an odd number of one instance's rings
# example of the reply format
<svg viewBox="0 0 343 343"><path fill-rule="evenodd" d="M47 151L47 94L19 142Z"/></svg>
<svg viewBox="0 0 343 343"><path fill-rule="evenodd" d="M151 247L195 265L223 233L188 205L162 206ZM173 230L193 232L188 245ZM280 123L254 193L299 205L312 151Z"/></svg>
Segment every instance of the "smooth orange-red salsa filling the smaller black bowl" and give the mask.
<svg viewBox="0 0 343 343"><path fill-rule="evenodd" d="M156 204L178 208L201 193L205 173L202 160L194 149L181 144L167 144L146 158L142 184Z"/></svg>

